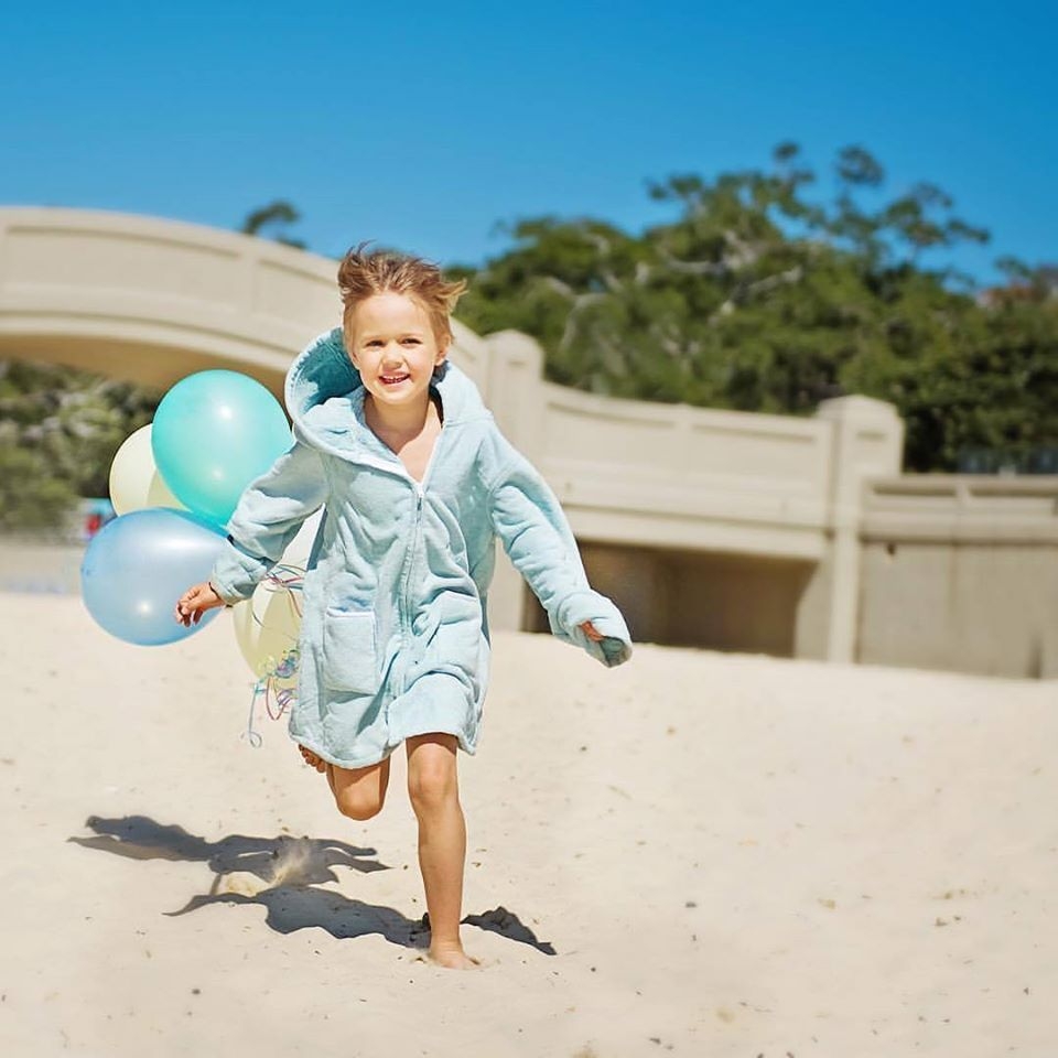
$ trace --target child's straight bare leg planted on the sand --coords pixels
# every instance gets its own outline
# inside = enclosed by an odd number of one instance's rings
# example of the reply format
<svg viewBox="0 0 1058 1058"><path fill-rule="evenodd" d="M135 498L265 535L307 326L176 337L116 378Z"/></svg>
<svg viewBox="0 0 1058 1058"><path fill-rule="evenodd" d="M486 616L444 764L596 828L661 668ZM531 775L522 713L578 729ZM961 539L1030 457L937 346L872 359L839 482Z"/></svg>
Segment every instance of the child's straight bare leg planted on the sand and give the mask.
<svg viewBox="0 0 1058 1058"><path fill-rule="evenodd" d="M430 913L430 958L445 967L475 964L463 951L463 865L466 824L460 806L454 735L407 741L408 796L419 820L419 866Z"/></svg>

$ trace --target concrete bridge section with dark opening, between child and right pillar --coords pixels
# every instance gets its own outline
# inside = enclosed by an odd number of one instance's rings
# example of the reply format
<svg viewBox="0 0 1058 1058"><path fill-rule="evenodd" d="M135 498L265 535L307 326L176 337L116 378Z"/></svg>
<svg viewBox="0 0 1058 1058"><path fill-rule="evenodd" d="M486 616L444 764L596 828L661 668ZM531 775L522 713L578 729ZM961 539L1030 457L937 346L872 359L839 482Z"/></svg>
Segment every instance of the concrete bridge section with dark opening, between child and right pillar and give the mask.
<svg viewBox="0 0 1058 1058"><path fill-rule="evenodd" d="M862 486L899 469L890 406L846 397L798 419L617 400L542 381L526 335L485 343L497 420L637 638L852 660ZM509 570L498 589L500 627L547 626Z"/></svg>

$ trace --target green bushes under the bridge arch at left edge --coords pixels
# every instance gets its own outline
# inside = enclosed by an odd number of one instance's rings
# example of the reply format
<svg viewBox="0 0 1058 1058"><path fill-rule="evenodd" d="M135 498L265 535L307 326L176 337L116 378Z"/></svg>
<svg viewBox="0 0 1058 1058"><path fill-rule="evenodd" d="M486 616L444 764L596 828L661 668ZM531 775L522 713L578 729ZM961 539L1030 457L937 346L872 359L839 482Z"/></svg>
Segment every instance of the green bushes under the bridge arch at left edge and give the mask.
<svg viewBox="0 0 1058 1058"><path fill-rule="evenodd" d="M160 395L66 367L0 361L0 529L54 528L107 496L121 443Z"/></svg>

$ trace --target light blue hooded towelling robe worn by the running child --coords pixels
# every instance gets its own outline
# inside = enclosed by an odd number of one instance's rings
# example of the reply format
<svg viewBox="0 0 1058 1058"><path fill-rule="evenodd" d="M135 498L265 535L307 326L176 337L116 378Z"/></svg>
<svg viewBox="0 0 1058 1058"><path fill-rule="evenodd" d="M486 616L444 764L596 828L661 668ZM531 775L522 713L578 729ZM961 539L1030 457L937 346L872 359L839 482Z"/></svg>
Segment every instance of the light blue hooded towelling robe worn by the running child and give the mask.
<svg viewBox="0 0 1058 1058"><path fill-rule="evenodd" d="M242 494L210 576L226 603L248 598L325 508L304 577L290 735L344 768L429 732L474 753L496 537L559 638L607 666L631 652L619 611L589 586L558 500L477 388L447 363L432 385L443 422L420 485L367 427L341 328L321 335L287 376L294 445ZM601 643L579 627L585 620Z"/></svg>

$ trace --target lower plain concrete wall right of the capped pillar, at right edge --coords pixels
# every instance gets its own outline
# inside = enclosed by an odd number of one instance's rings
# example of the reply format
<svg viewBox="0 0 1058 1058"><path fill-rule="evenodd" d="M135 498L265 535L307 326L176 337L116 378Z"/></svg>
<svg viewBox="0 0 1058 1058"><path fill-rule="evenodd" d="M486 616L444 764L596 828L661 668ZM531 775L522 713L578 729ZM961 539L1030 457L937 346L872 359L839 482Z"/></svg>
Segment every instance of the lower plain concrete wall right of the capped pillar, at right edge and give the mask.
<svg viewBox="0 0 1058 1058"><path fill-rule="evenodd" d="M1058 677L1058 477L872 482L857 658Z"/></svg>

